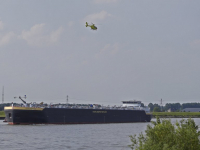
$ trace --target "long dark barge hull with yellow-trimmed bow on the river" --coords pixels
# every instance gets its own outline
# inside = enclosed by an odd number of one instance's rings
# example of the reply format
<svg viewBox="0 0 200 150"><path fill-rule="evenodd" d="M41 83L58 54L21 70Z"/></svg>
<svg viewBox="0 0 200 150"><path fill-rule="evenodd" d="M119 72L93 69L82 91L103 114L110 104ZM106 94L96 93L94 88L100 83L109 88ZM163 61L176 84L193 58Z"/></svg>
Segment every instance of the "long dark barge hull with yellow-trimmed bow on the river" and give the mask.
<svg viewBox="0 0 200 150"><path fill-rule="evenodd" d="M125 101L127 102L127 101ZM8 124L96 124L150 122L151 114L135 107L4 107Z"/></svg>

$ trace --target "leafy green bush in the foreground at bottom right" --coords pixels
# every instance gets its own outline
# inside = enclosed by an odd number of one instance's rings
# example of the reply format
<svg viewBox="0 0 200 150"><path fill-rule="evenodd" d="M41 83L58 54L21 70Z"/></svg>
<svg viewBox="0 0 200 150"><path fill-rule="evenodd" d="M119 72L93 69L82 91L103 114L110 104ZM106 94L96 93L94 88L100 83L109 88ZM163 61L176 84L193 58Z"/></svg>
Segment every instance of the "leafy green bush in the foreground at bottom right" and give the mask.
<svg viewBox="0 0 200 150"><path fill-rule="evenodd" d="M175 125L170 120L152 121L143 133L130 136L131 149L136 150L200 150L200 132L193 119L181 120Z"/></svg>

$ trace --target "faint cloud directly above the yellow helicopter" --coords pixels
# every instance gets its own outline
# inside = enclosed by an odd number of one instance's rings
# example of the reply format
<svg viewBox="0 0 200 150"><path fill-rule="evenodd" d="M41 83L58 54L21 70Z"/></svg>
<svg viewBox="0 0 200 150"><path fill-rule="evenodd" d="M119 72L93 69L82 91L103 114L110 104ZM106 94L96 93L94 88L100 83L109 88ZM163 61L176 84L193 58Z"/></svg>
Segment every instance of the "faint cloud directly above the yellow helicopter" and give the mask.
<svg viewBox="0 0 200 150"><path fill-rule="evenodd" d="M111 14L107 13L105 10L102 10L100 13L94 13L94 14L90 14L88 16L86 16L84 18L84 22L98 22L98 21L102 21L105 20L108 17L112 17Z"/></svg>

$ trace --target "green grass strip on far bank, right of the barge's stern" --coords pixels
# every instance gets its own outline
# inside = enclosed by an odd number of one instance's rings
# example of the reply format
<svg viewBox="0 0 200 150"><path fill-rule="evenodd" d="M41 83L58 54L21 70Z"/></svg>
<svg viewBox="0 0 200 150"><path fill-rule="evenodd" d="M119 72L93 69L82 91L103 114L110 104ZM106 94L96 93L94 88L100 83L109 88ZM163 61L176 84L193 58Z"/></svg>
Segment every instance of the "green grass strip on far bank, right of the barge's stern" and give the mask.
<svg viewBox="0 0 200 150"><path fill-rule="evenodd" d="M200 117L200 112L153 112L153 116L174 116L174 117Z"/></svg>

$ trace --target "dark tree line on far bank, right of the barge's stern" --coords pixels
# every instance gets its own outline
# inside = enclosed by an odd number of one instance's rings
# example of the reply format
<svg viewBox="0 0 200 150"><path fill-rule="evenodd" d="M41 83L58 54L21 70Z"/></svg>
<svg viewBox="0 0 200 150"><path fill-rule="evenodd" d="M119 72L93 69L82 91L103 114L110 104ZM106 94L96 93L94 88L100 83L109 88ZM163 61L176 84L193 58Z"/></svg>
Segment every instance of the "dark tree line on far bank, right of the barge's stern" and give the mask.
<svg viewBox="0 0 200 150"><path fill-rule="evenodd" d="M148 107L150 108L150 111L154 112L162 112L162 111L168 111L171 109L171 111L182 111L185 108L200 108L200 103L167 103L165 106L160 106L158 104L152 104L149 103Z"/></svg>

